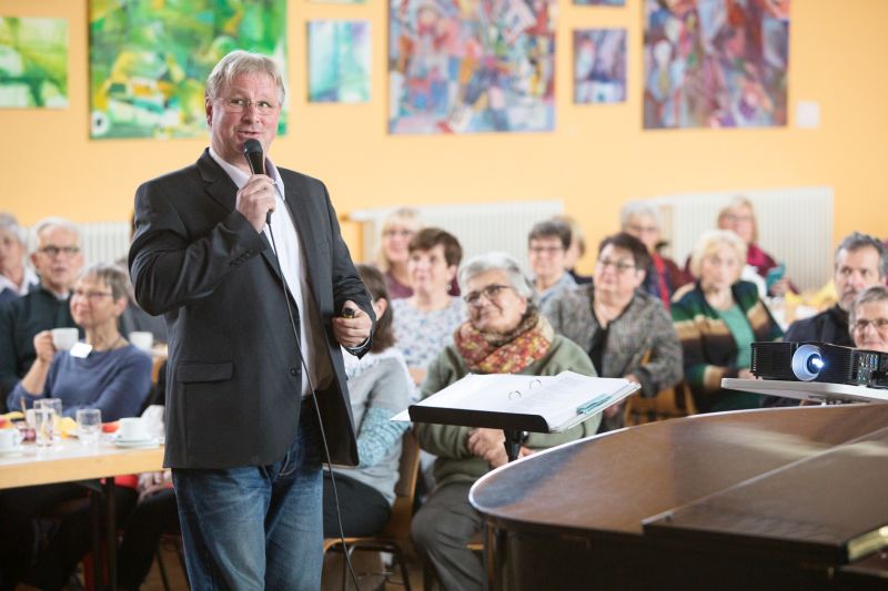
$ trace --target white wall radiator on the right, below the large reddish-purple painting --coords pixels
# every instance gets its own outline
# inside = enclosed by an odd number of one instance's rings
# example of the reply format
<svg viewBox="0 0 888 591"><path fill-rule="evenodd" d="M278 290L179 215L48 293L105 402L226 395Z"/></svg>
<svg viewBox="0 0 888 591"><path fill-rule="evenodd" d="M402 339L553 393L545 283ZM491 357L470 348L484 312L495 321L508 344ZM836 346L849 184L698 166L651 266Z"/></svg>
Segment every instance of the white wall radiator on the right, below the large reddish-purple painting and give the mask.
<svg viewBox="0 0 888 591"><path fill-rule="evenodd" d="M756 211L758 244L779 263L799 289L819 288L833 275L833 188L797 187L669 195L652 200L663 217L663 237L680 265L705 230L716 227L718 212L734 196L747 197Z"/></svg>

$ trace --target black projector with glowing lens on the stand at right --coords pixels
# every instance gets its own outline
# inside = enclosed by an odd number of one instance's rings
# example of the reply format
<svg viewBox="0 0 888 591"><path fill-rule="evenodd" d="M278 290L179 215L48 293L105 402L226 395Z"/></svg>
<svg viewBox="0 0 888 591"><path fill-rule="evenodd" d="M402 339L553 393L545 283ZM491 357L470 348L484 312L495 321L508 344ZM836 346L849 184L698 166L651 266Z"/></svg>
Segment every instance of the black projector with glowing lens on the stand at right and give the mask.
<svg viewBox="0 0 888 591"><path fill-rule="evenodd" d="M829 343L753 343L753 375L888 388L888 354Z"/></svg>

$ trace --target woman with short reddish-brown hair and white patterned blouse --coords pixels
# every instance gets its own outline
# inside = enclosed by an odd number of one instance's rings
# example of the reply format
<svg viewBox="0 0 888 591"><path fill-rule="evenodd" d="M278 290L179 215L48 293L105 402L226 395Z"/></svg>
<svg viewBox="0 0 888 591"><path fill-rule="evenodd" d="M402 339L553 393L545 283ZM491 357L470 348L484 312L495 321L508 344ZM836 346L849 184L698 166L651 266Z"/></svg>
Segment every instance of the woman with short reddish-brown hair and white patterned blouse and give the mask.
<svg viewBox="0 0 888 591"><path fill-rule="evenodd" d="M393 300L392 310L397 347L414 384L420 385L428 364L453 342L453 332L464 319L460 297L450 293L463 248L452 234L437 227L417 232L408 248L413 295Z"/></svg>

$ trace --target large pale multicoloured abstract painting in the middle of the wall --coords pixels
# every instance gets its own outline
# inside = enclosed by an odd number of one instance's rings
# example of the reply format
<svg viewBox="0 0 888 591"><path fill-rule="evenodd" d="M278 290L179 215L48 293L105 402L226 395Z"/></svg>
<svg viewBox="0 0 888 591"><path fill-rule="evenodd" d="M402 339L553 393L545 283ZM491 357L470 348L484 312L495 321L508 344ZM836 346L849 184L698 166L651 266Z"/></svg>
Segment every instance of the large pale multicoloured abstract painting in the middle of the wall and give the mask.
<svg viewBox="0 0 888 591"><path fill-rule="evenodd" d="M390 0L392 133L555 125L555 0Z"/></svg>

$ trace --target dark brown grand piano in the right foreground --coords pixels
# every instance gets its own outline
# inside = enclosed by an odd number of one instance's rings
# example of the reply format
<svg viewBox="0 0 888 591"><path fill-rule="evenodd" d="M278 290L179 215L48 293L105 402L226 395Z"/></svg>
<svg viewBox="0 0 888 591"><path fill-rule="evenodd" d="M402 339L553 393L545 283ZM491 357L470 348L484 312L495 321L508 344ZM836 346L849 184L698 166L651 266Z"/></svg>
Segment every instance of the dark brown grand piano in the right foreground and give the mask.
<svg viewBox="0 0 888 591"><path fill-rule="evenodd" d="M888 589L888 404L699 415L480 479L494 589Z"/></svg>

